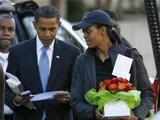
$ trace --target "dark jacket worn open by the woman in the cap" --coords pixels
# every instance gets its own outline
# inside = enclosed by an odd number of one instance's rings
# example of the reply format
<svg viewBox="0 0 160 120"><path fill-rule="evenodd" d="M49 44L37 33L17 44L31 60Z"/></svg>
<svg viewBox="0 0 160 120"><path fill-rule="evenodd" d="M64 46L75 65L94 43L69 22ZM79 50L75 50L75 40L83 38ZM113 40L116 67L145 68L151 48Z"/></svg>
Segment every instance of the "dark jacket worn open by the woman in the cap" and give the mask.
<svg viewBox="0 0 160 120"><path fill-rule="evenodd" d="M118 54L133 58L130 82L141 91L141 104L133 112L139 120L144 120L152 108L153 95L142 57L135 48L128 48L123 44L115 45L109 50L113 65ZM96 84L95 51L88 49L77 58L73 72L71 95L77 120L95 120L96 107L90 105L84 95L91 88L96 88Z"/></svg>

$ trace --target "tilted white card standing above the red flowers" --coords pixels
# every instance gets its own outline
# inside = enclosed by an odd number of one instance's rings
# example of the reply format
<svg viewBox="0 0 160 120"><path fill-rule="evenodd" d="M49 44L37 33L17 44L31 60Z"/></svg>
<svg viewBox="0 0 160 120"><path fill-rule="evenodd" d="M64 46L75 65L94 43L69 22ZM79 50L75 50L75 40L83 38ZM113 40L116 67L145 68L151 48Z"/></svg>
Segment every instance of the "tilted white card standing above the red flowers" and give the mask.
<svg viewBox="0 0 160 120"><path fill-rule="evenodd" d="M127 56L118 54L112 75L117 77L126 78L127 80L130 79L130 69L132 65L133 59Z"/></svg>

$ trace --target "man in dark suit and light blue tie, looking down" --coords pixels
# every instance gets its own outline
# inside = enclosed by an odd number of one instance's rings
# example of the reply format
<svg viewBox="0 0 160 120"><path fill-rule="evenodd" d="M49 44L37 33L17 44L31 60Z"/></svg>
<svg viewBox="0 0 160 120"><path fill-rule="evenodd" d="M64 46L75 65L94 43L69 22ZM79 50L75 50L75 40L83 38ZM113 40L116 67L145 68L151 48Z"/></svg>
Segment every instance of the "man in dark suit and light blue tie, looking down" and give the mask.
<svg viewBox="0 0 160 120"><path fill-rule="evenodd" d="M32 94L46 91L69 91L72 67L79 50L55 38L60 27L60 15L51 6L35 12L37 37L10 49L7 71L16 75L24 90ZM16 120L70 120L70 95L58 94L52 100L33 103L28 109L26 97L7 89L7 103L15 111Z"/></svg>

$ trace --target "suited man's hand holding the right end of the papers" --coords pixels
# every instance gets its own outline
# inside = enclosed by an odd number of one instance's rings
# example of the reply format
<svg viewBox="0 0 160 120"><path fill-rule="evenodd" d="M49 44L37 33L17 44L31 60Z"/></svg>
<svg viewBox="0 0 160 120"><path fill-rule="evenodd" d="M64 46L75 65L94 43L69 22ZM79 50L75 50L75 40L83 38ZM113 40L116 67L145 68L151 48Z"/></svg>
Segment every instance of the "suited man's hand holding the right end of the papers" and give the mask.
<svg viewBox="0 0 160 120"><path fill-rule="evenodd" d="M60 92L55 95L55 100L60 103L68 103L71 100L71 96L68 92Z"/></svg>

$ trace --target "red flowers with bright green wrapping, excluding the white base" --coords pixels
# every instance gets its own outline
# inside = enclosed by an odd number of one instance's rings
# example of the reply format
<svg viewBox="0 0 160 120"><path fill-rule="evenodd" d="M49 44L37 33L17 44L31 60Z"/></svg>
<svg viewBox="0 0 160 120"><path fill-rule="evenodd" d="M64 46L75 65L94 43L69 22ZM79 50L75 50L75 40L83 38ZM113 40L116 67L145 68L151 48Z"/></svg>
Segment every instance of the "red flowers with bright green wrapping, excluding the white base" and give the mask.
<svg viewBox="0 0 160 120"><path fill-rule="evenodd" d="M101 112L107 104L114 105L119 101L125 103L131 110L140 104L140 91L127 79L113 78L100 82L98 90L90 89L85 94L85 99L89 104L97 106Z"/></svg>

